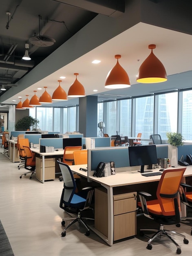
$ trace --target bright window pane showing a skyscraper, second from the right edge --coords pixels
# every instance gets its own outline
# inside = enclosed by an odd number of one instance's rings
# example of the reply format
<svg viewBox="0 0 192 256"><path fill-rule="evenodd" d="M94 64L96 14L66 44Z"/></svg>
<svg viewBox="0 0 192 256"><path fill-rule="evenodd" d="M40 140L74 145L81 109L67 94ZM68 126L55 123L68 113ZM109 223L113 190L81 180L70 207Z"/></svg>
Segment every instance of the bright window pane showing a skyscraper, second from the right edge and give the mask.
<svg viewBox="0 0 192 256"><path fill-rule="evenodd" d="M167 132L177 132L178 92L159 94L157 133L167 139Z"/></svg>

